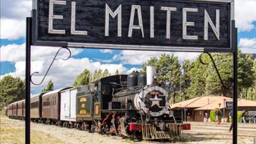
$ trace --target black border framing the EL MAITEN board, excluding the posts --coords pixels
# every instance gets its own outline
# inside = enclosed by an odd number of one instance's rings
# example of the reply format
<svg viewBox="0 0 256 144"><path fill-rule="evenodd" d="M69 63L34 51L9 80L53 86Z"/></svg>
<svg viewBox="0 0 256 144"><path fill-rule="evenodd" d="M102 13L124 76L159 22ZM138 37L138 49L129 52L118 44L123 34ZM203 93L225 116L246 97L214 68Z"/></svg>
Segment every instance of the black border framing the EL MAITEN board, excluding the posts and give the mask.
<svg viewBox="0 0 256 144"><path fill-rule="evenodd" d="M204 47L204 46L190 46L189 44L187 44L186 46L181 45L127 45L127 44L115 44L115 43L86 43L86 42L68 42L68 41L54 41L54 40L42 40L39 39L40 33L39 33L39 7L42 7L42 4L39 4L39 1L42 0L34 0L34 10L32 10L32 19L33 19L33 24L32 24L32 28L33 28L33 37L32 37L32 45L40 45L40 46L58 46L58 47L67 47L67 48L104 48L104 49L119 49L119 50L157 50L157 51L181 51L181 52L233 52L233 48L232 48L232 33L233 33L233 29L232 29L232 20L234 19L234 1L233 0L158 0L158 1L174 1L176 3L178 2L187 2L191 1L195 4L228 4L230 7L230 11L229 11L229 19L227 20L229 27L228 27L228 33L224 35L229 35L228 37L228 46L226 46L225 48L219 48L219 47ZM108 0L106 0L108 1ZM125 1L125 0L120 0L120 1ZM78 7L78 6L77 6ZM149 6L148 6L149 7ZM215 6L216 7L216 6ZM114 8L113 10L116 10L116 8ZM47 19L47 18L44 18ZM223 19L223 18L222 18ZM214 21L214 20L213 20ZM214 22L215 23L215 22ZM45 27L45 26L44 26ZM210 26L208 26L208 29L211 29ZM202 28L203 29L203 28ZM209 33L211 32L213 34L213 32L211 30L208 30ZM115 31L116 32L116 31ZM182 31L181 31L182 32ZM223 33L222 33L223 34ZM48 37L48 36L47 36ZM59 35L60 37L60 35ZM75 39L76 37L72 37L72 39ZM140 39L138 39L139 41ZM177 40L178 41L178 40ZM185 40L186 41L186 40ZM201 41L200 41L201 42ZM200 43L200 42L193 42L195 43ZM119 42L120 43L120 42ZM124 42L125 43L125 42ZM183 43L183 42L181 42ZM211 42L214 45L214 42Z"/></svg>

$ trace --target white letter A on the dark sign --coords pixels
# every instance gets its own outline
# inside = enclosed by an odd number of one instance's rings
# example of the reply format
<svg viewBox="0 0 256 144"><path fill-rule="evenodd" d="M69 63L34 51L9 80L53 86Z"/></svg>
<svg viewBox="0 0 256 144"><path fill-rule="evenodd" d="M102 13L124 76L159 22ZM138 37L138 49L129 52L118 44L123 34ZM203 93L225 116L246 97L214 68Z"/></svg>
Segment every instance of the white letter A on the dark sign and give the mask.
<svg viewBox="0 0 256 144"><path fill-rule="evenodd" d="M139 25L134 25L134 19L135 19L135 10L137 10L138 13L138 21ZM132 5L131 15L129 18L129 31L128 31L128 37L132 37L132 30L133 29L140 29L141 35L144 37L144 31L143 31L143 22L142 22L142 15L141 15L141 9L139 5Z"/></svg>

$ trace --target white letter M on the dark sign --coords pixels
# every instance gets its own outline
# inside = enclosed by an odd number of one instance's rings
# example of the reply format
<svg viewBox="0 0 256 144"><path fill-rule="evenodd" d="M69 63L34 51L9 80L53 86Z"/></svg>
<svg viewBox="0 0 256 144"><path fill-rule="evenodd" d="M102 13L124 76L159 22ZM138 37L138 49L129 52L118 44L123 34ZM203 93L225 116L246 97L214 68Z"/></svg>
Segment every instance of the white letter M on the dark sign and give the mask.
<svg viewBox="0 0 256 144"><path fill-rule="evenodd" d="M109 15L111 18L116 18L117 16L117 36L121 37L121 4L119 7L113 12L110 7L108 7L108 4L105 5L105 36L109 36Z"/></svg>

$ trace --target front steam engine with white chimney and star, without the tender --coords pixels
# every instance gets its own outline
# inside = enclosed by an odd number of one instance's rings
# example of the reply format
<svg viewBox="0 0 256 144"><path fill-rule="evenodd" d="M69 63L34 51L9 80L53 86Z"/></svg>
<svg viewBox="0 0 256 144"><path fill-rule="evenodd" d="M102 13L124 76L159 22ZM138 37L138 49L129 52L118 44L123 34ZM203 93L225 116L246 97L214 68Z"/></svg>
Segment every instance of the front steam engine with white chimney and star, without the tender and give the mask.
<svg viewBox="0 0 256 144"><path fill-rule="evenodd" d="M144 140L172 140L181 134L169 107L169 95L154 77L154 67L147 73L132 72L127 76L127 88L121 88L109 102L111 124L117 134ZM109 115L111 115L109 113Z"/></svg>

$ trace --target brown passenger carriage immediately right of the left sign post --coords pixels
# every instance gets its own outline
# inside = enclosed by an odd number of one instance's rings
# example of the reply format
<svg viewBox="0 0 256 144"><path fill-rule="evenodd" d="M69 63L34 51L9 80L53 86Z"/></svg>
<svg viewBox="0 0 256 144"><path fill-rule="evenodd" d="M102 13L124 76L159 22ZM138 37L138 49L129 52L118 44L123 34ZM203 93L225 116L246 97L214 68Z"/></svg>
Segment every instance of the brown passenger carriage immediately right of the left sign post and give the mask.
<svg viewBox="0 0 256 144"><path fill-rule="evenodd" d="M32 121L38 121L42 118L42 95L45 93L35 94L30 99L30 118Z"/></svg>

